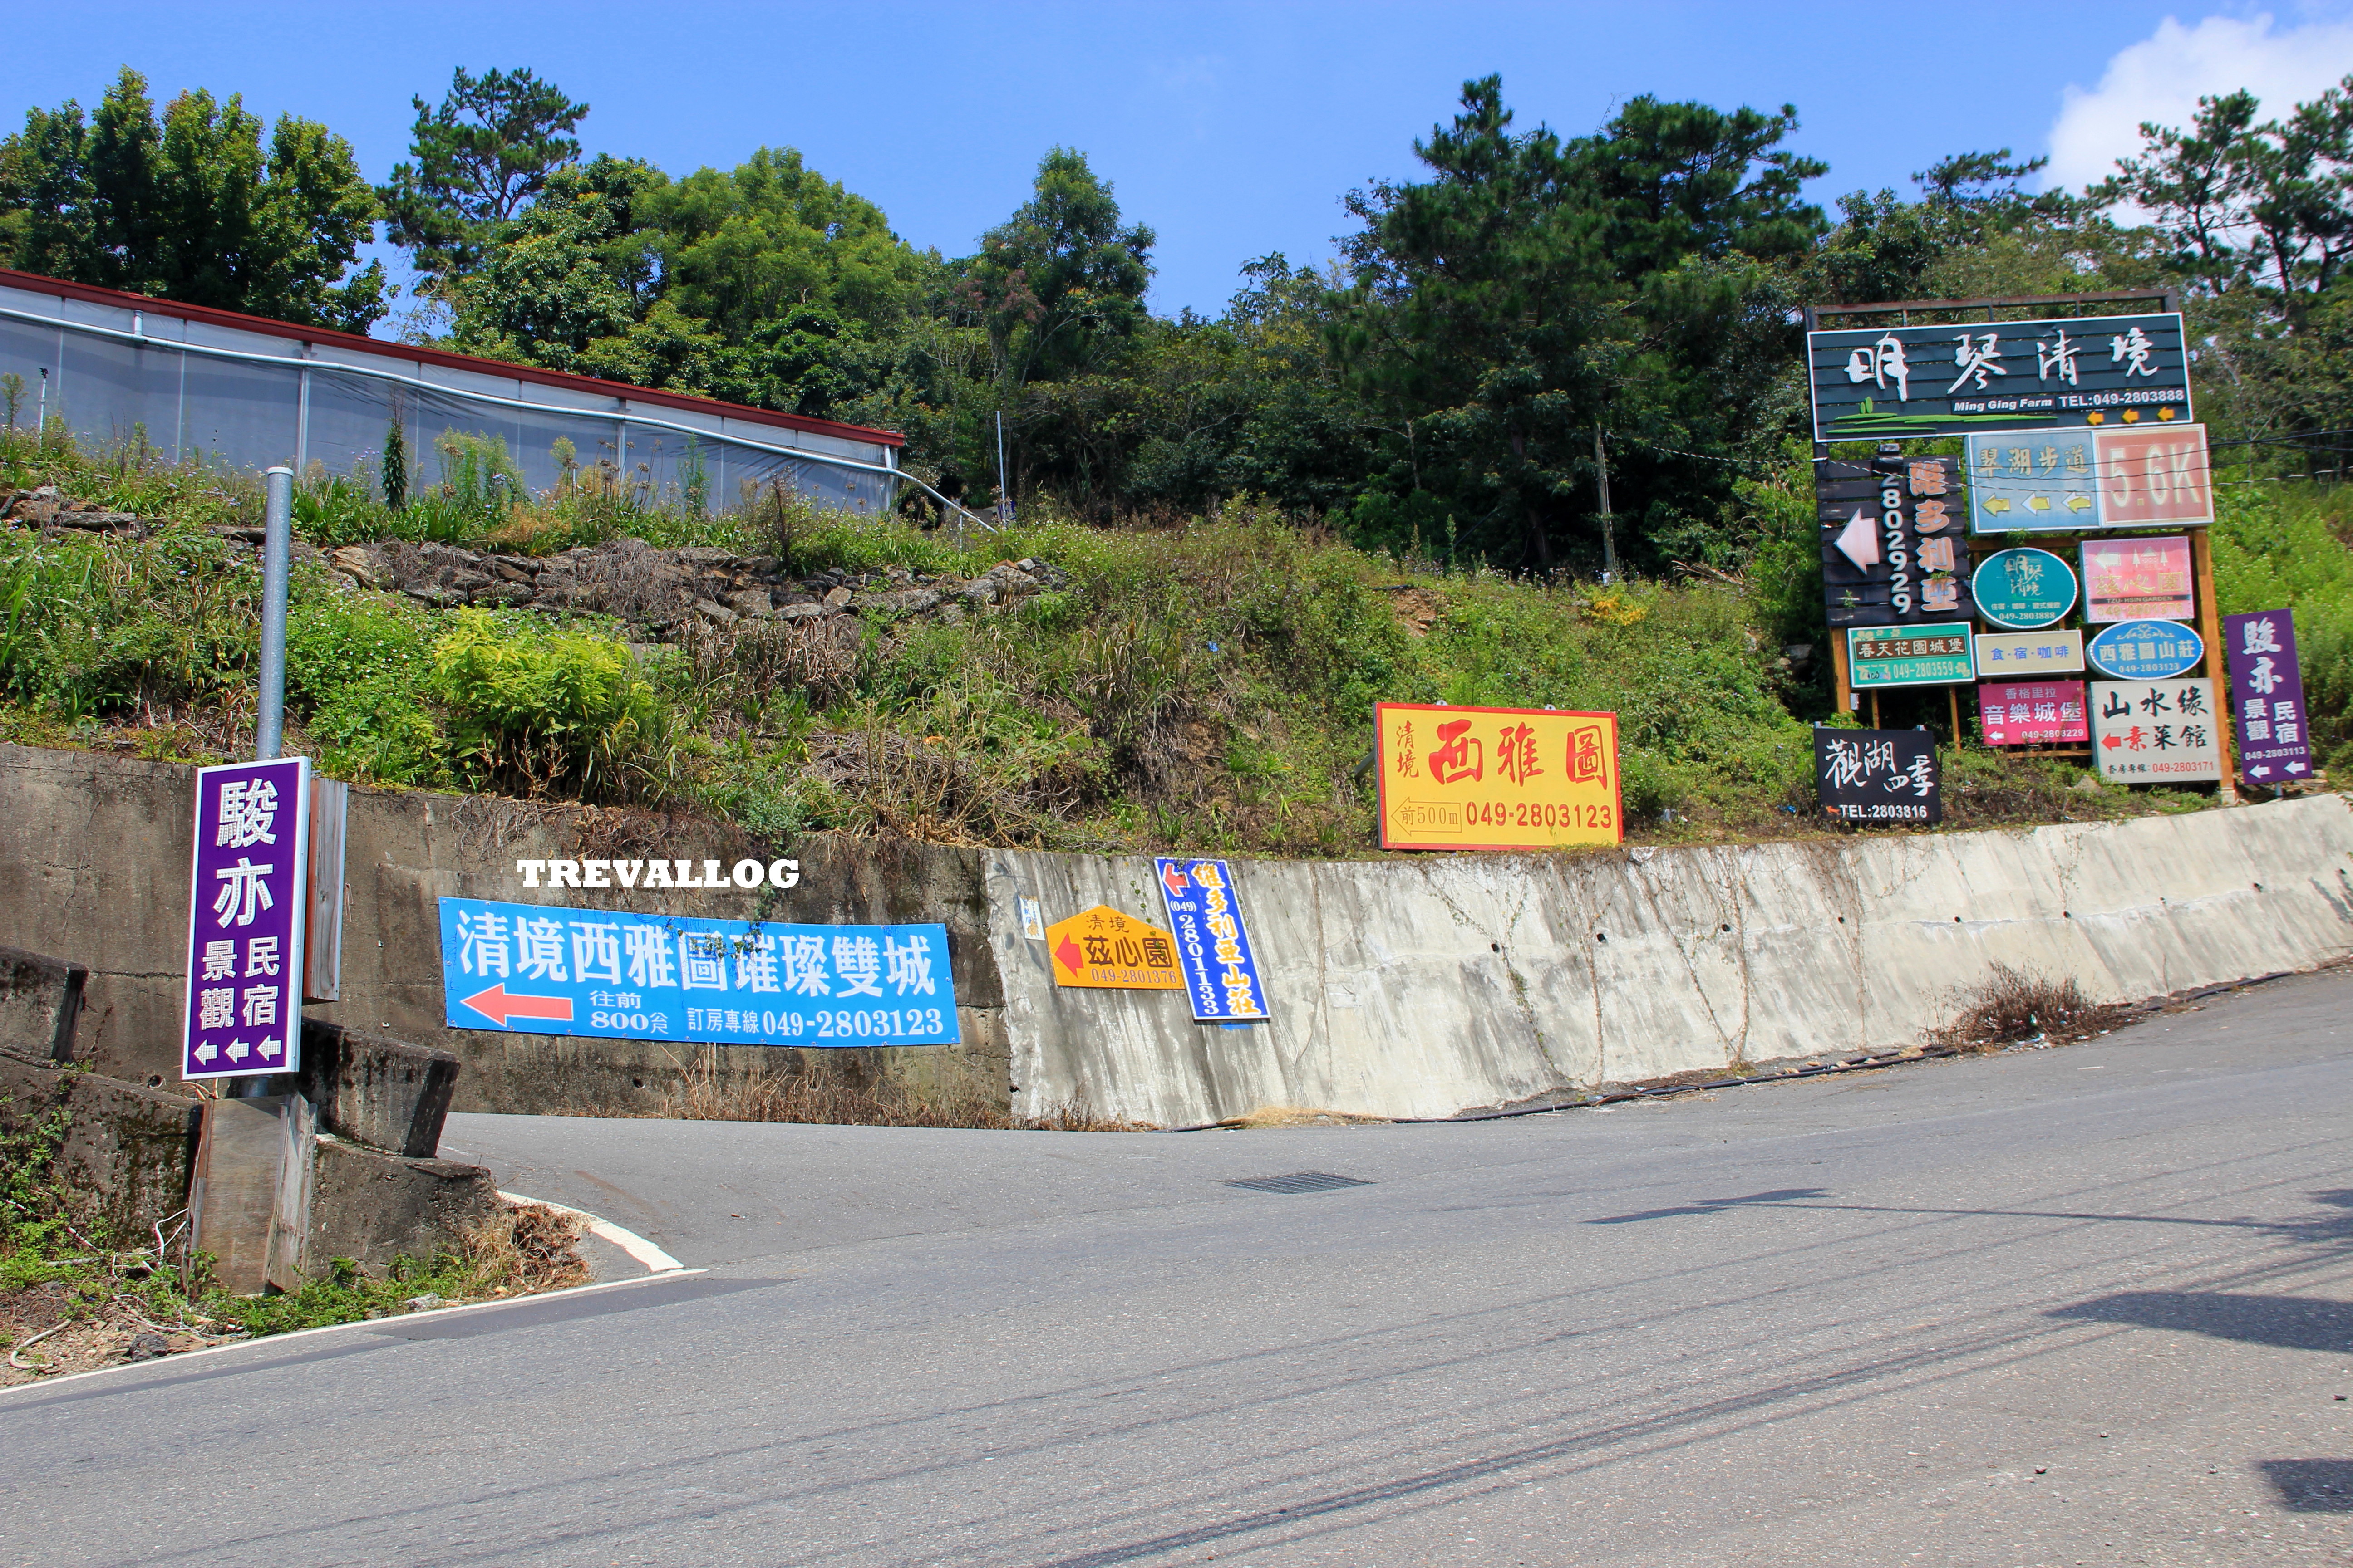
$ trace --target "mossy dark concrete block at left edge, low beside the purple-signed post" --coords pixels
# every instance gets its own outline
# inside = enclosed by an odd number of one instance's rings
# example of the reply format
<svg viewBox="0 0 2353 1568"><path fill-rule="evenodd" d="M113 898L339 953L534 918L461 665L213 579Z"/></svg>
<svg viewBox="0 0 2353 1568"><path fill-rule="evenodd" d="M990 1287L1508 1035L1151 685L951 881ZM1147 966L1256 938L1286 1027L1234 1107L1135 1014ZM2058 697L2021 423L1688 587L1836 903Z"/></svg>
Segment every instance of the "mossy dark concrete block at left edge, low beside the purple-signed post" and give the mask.
<svg viewBox="0 0 2353 1568"><path fill-rule="evenodd" d="M0 1051L0 1133L26 1133L56 1110L66 1135L54 1171L85 1194L89 1218L136 1239L188 1204L195 1100Z"/></svg>

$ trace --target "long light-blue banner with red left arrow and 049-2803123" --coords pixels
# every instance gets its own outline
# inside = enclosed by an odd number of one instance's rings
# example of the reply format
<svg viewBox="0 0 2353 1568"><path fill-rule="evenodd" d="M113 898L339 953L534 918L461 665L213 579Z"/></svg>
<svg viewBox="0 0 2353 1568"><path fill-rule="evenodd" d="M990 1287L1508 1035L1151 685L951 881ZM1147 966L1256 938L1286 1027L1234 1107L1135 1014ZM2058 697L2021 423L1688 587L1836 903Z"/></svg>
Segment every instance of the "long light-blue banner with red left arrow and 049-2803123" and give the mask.
<svg viewBox="0 0 2353 1568"><path fill-rule="evenodd" d="M946 926L788 926L442 898L452 1030L953 1046Z"/></svg>

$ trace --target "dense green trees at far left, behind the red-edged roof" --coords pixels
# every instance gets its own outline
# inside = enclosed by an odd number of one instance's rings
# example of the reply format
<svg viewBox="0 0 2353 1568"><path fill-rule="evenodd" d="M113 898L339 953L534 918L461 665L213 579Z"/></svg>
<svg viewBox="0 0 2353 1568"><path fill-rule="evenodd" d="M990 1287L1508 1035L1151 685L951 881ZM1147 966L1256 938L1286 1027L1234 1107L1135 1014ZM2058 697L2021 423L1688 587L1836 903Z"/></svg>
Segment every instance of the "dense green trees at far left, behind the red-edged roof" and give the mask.
<svg viewBox="0 0 2353 1568"><path fill-rule="evenodd" d="M351 143L193 89L158 120L125 66L99 110L28 110L0 141L0 254L28 273L367 331L384 268L353 273L376 197Z"/></svg>

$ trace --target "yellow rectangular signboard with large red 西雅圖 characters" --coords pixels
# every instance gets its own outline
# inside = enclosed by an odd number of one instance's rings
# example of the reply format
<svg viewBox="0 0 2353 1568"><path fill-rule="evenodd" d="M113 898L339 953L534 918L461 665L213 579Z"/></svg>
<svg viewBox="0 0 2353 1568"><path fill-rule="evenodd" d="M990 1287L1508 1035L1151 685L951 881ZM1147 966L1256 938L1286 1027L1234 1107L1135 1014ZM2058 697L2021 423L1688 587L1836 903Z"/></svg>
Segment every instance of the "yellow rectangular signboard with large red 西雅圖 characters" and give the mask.
<svg viewBox="0 0 2353 1568"><path fill-rule="evenodd" d="M1617 844L1617 715L1379 703L1381 849Z"/></svg>

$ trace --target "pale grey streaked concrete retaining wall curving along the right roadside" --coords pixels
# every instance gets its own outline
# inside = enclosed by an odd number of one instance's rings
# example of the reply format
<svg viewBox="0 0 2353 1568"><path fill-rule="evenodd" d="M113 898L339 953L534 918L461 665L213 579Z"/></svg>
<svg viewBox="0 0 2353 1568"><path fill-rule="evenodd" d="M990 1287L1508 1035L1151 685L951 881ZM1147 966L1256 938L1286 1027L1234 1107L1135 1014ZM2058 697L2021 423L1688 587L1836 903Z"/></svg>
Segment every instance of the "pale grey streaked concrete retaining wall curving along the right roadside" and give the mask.
<svg viewBox="0 0 2353 1568"><path fill-rule="evenodd" d="M1447 1117L1544 1093L1913 1041L1991 964L2092 999L2353 952L2353 811L2313 797L2017 832L1562 858L1233 865L1264 1025L1064 990L1047 922L1162 922L1151 860L988 853L1014 1110L1162 1126L1261 1105Z"/></svg>

